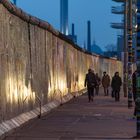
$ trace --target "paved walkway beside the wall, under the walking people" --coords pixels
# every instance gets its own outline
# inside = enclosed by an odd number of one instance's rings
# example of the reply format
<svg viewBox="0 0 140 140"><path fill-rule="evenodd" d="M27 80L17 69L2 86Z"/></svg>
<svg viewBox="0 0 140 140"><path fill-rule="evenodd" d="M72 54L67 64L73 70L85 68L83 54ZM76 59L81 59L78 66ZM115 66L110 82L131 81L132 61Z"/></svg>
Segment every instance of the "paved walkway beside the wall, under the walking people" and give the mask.
<svg viewBox="0 0 140 140"><path fill-rule="evenodd" d="M75 98L47 116L23 127L5 140L128 140L136 135L133 109L127 99L110 96Z"/></svg>

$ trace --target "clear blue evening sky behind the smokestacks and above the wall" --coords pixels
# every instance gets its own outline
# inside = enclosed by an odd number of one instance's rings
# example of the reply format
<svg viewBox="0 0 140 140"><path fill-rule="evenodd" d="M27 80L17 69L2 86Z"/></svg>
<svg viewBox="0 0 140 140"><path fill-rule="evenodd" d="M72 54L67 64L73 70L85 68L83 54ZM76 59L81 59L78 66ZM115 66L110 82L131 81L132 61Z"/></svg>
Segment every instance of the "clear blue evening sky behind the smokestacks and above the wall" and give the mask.
<svg viewBox="0 0 140 140"><path fill-rule="evenodd" d="M17 0L17 6L27 13L48 21L60 28L60 0ZM87 38L87 20L91 20L92 41L104 46L117 43L119 30L110 27L111 22L120 22L122 17L111 13L111 6L119 5L112 0L69 0L69 28L75 23L78 44L83 46ZM70 30L71 32L71 30Z"/></svg>

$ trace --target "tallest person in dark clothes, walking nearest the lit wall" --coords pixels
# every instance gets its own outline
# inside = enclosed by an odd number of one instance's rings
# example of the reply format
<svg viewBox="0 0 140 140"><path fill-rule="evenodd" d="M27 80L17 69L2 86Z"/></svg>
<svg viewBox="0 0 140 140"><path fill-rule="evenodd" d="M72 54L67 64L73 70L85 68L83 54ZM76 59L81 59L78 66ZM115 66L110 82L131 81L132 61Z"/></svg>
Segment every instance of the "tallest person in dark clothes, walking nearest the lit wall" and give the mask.
<svg viewBox="0 0 140 140"><path fill-rule="evenodd" d="M88 101L93 101L94 97L94 88L96 87L96 76L94 71L89 69L85 78L85 87L87 87L88 91Z"/></svg>

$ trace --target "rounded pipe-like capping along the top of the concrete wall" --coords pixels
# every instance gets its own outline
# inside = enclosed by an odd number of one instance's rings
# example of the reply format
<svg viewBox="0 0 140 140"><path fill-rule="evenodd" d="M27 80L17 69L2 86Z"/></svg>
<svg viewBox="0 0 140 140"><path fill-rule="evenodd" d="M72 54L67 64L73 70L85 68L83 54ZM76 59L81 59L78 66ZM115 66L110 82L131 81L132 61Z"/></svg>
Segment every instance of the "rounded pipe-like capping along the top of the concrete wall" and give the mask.
<svg viewBox="0 0 140 140"><path fill-rule="evenodd" d="M83 48L81 48L80 46L75 44L72 40L70 40L66 35L64 35L64 34L60 33L58 30L56 30L50 23L24 12L21 8L18 8L16 5L14 5L9 0L0 0L0 4L2 4L11 14L19 17L20 19L22 19L23 21L25 21L27 23L30 23L32 25L36 25L42 29L45 29L45 30L51 32L53 35L66 41L67 43L71 44L74 48L76 48L77 50L79 50L83 53L106 58L106 59L115 60L114 58L105 57L105 56L101 56L101 55L99 56L97 54L93 54L93 53L88 52L87 50L84 50Z"/></svg>

